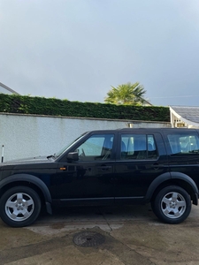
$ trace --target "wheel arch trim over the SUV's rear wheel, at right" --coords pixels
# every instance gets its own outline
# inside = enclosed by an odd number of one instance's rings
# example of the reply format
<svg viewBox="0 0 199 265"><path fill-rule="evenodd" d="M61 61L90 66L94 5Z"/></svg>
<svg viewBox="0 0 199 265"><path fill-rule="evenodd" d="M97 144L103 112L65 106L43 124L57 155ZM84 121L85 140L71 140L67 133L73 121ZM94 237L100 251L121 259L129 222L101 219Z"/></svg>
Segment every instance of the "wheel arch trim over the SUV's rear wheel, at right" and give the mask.
<svg viewBox="0 0 199 265"><path fill-rule="evenodd" d="M165 186L180 186L188 192L193 204L198 204L198 188L195 181L188 175L180 172L167 172L160 175L150 184L145 196L145 201L149 202L156 197L156 194Z"/></svg>

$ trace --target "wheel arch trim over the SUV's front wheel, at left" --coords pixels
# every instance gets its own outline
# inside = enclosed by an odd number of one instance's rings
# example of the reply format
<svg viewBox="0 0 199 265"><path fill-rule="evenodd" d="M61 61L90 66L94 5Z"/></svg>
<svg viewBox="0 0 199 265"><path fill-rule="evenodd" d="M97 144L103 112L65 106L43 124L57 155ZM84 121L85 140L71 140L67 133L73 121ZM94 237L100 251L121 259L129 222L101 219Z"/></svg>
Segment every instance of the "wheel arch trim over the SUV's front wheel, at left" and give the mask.
<svg viewBox="0 0 199 265"><path fill-rule="evenodd" d="M42 201L44 201L46 210L49 214L52 213L51 209L51 195L49 188L40 178L35 178L33 175L29 174L15 174L7 178L4 178L0 183L0 196L7 191L10 187L15 186L29 186L34 189L40 196L42 196Z"/></svg>

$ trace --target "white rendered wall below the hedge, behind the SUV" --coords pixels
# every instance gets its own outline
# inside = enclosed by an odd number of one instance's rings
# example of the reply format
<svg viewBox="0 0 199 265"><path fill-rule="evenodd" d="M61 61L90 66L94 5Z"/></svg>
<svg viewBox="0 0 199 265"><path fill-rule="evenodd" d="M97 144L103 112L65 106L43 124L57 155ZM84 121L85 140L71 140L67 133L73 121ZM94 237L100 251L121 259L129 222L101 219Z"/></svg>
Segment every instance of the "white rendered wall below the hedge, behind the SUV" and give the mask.
<svg viewBox="0 0 199 265"><path fill-rule="evenodd" d="M30 156L53 155L81 133L124 128L129 123L133 123L134 127L171 126L169 123L1 113L0 157L3 145L4 162Z"/></svg>

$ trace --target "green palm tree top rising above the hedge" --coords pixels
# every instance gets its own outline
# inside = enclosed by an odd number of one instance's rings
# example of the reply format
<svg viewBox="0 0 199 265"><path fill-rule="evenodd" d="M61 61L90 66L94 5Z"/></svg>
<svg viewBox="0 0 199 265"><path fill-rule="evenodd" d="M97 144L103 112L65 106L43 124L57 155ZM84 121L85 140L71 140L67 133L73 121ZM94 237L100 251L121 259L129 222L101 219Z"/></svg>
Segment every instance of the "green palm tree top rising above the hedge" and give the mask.
<svg viewBox="0 0 199 265"><path fill-rule="evenodd" d="M112 87L107 93L104 102L117 105L143 105L146 102L143 98L145 93L146 90L139 82L134 84L129 82L118 87Z"/></svg>

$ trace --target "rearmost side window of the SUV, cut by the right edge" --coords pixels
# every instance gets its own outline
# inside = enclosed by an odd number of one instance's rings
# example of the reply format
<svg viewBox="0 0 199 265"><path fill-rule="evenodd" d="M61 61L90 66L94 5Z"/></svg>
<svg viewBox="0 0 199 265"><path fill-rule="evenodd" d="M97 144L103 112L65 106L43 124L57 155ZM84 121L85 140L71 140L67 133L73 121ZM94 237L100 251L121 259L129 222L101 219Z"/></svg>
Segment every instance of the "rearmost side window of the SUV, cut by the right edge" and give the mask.
<svg viewBox="0 0 199 265"><path fill-rule="evenodd" d="M168 134L171 155L199 155L199 138L196 134Z"/></svg>

